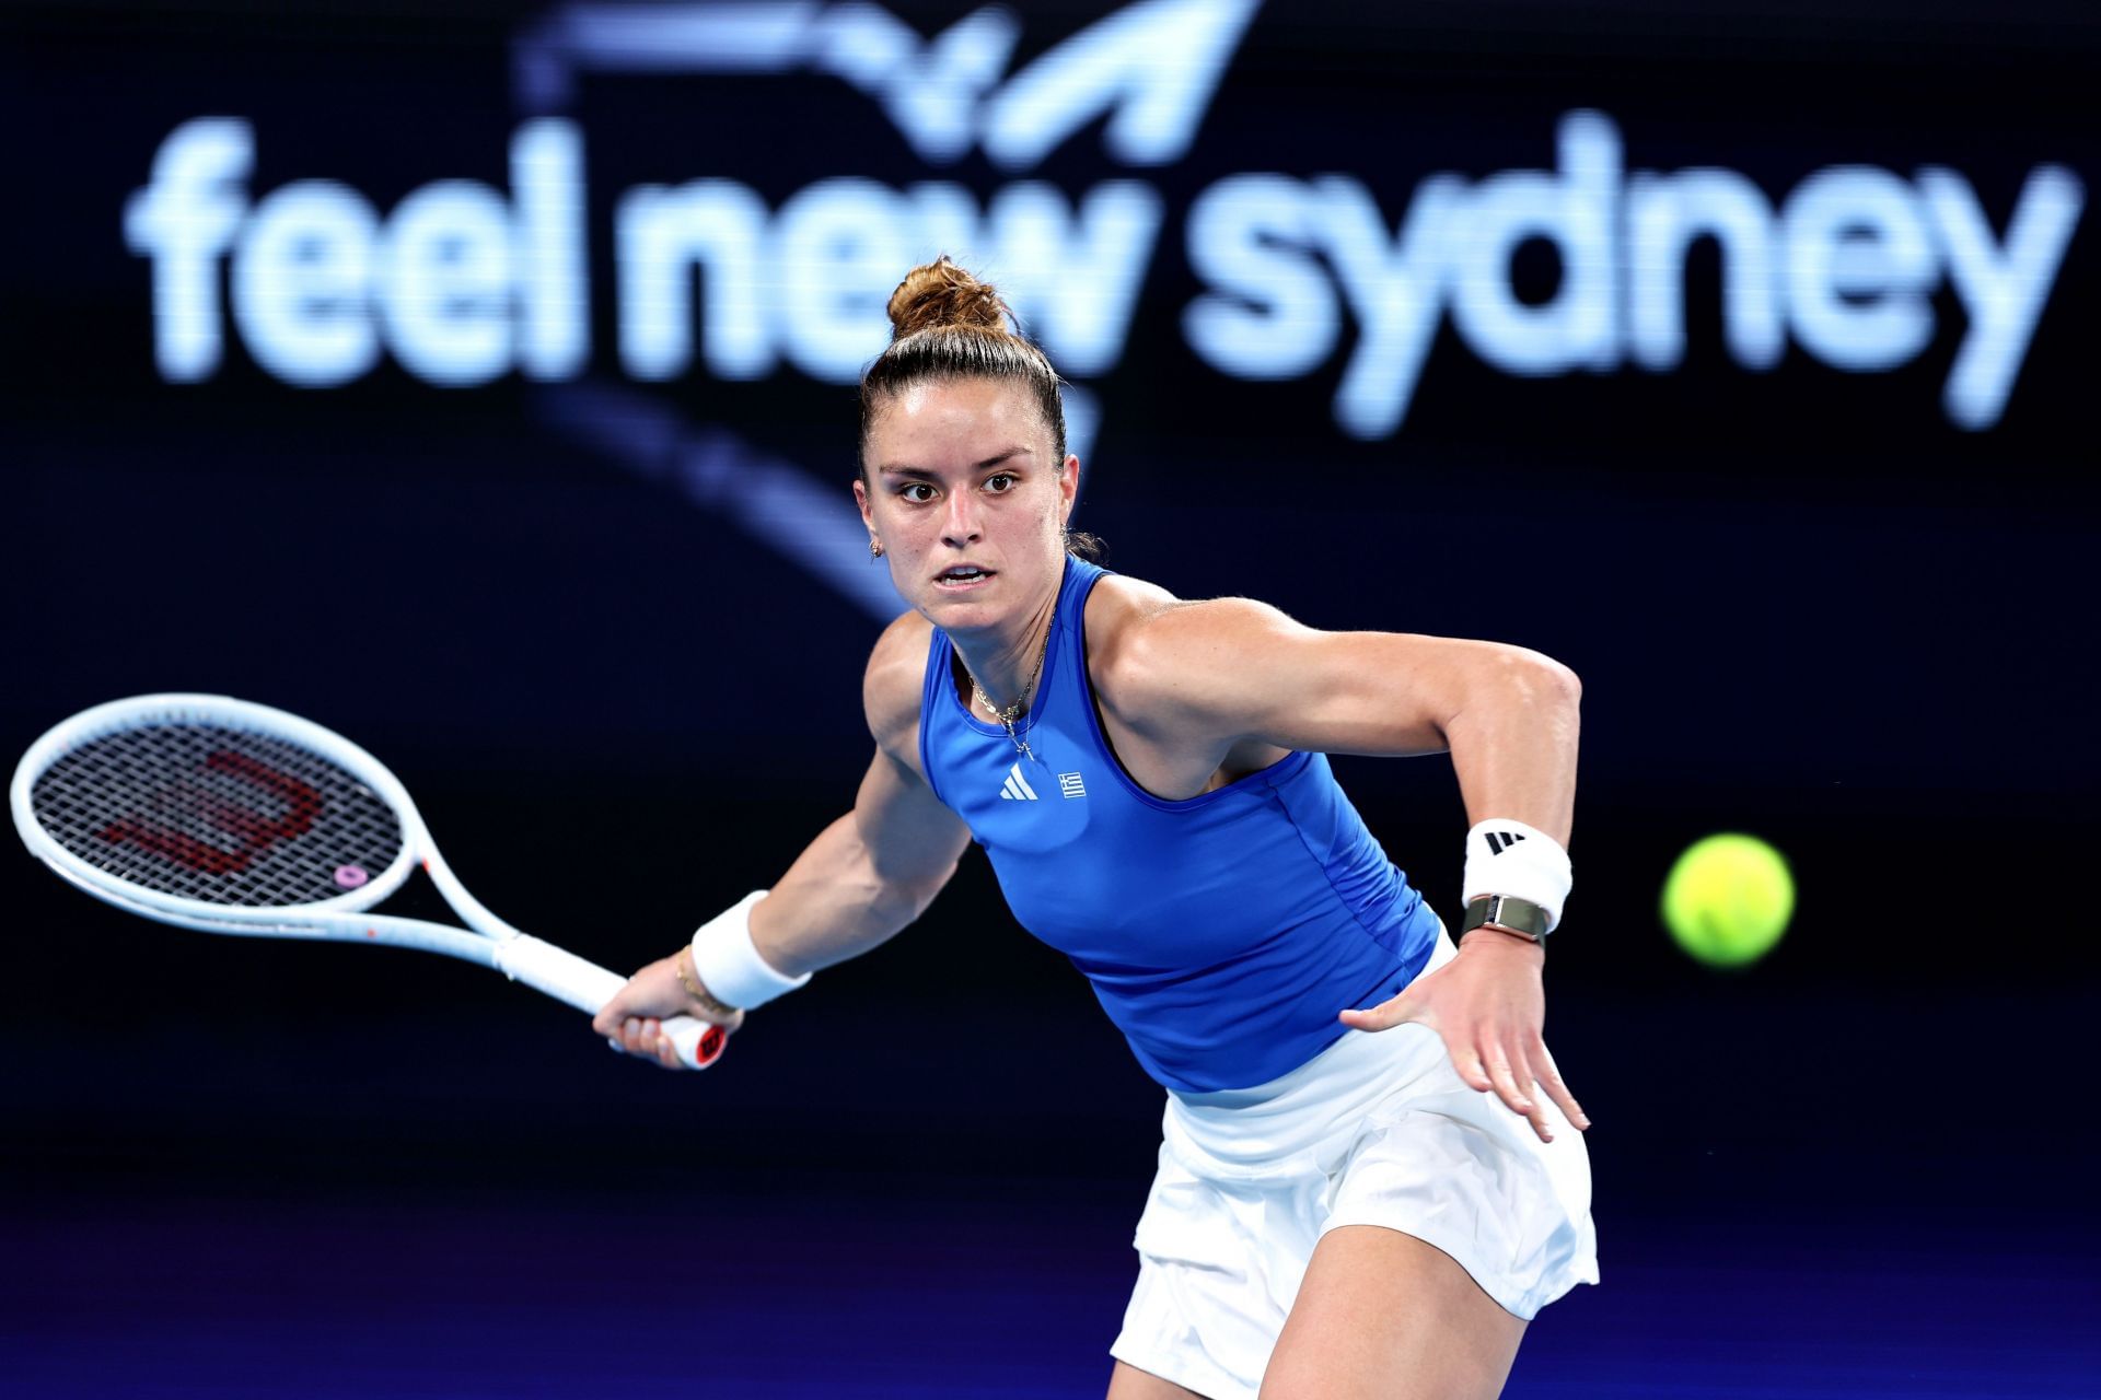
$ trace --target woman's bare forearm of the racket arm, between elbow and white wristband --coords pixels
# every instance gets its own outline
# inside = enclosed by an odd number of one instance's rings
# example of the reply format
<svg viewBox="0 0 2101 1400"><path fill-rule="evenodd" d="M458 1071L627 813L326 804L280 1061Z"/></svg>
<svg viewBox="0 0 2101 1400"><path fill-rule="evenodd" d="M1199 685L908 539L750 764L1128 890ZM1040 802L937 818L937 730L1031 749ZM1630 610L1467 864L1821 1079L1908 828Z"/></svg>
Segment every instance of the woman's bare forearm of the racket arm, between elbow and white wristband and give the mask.
<svg viewBox="0 0 2101 1400"><path fill-rule="evenodd" d="M954 869L878 869L849 812L752 907L752 945L784 976L847 961L924 913Z"/></svg>

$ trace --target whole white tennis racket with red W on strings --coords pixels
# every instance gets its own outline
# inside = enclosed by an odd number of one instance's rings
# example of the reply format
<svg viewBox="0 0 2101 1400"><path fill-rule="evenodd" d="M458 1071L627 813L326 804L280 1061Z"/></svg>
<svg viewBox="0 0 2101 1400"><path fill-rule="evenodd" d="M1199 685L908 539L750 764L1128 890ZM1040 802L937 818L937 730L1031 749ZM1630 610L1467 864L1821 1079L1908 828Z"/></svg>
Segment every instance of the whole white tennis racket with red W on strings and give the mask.
<svg viewBox="0 0 2101 1400"><path fill-rule="evenodd" d="M63 879L118 909L208 934L391 942L496 968L597 1012L620 974L481 907L376 758L298 716L223 695L141 695L76 714L29 745L15 829ZM422 867L466 926L366 913ZM725 1033L664 1022L706 1068Z"/></svg>

